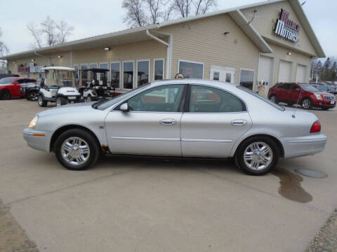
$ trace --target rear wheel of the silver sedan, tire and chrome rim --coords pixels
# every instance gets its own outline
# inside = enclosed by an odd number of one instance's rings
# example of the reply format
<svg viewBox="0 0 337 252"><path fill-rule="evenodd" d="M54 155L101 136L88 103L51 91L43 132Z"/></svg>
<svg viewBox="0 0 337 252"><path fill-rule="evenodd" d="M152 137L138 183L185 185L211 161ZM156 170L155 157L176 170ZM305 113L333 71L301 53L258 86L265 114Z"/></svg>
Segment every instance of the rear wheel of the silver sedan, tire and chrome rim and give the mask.
<svg viewBox="0 0 337 252"><path fill-rule="evenodd" d="M251 137L239 145L234 159L246 174L264 175L277 165L279 147L270 137Z"/></svg>

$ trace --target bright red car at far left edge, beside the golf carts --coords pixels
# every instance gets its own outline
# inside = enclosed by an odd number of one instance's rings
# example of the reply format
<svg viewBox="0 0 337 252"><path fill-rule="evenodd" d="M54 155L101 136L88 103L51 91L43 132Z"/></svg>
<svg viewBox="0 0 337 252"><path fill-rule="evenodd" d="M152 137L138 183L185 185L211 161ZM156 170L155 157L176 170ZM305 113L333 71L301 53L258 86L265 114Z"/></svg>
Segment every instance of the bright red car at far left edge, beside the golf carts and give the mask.
<svg viewBox="0 0 337 252"><path fill-rule="evenodd" d="M8 77L0 80L0 99L10 99L23 97L25 94L20 93L22 86L36 83L37 80L25 77Z"/></svg>

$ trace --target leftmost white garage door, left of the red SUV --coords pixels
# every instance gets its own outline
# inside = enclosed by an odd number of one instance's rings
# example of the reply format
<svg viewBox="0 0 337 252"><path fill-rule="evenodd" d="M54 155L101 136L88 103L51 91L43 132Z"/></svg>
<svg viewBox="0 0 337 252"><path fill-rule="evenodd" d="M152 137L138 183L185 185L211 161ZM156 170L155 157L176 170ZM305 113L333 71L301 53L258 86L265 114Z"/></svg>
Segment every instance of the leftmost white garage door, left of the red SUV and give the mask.
<svg viewBox="0 0 337 252"><path fill-rule="evenodd" d="M264 95L267 95L269 88L275 84L272 83L273 62L274 58L263 55L260 55L260 58L258 59L258 83L265 83Z"/></svg>

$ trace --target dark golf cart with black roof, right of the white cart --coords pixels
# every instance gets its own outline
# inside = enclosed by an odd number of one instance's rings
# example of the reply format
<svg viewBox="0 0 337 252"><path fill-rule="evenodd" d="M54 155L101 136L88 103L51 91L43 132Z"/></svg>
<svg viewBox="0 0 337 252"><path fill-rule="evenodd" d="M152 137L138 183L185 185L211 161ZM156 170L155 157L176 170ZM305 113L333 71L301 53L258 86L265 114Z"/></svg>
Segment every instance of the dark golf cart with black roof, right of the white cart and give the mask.
<svg viewBox="0 0 337 252"><path fill-rule="evenodd" d="M85 69L81 70L81 87L79 92L86 102L95 101L98 99L105 99L111 97L111 88L107 85L107 72L108 69ZM89 80L83 76L90 75Z"/></svg>

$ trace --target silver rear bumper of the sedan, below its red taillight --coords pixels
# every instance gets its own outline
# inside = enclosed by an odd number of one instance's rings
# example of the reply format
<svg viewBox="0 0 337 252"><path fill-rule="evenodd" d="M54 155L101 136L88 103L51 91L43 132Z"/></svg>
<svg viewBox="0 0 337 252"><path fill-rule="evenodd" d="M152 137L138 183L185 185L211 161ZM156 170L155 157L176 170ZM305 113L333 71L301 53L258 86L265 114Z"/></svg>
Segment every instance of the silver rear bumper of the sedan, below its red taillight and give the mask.
<svg viewBox="0 0 337 252"><path fill-rule="evenodd" d="M297 158L324 151L326 136L319 133L304 137L284 137L281 141L284 147L284 158Z"/></svg>

